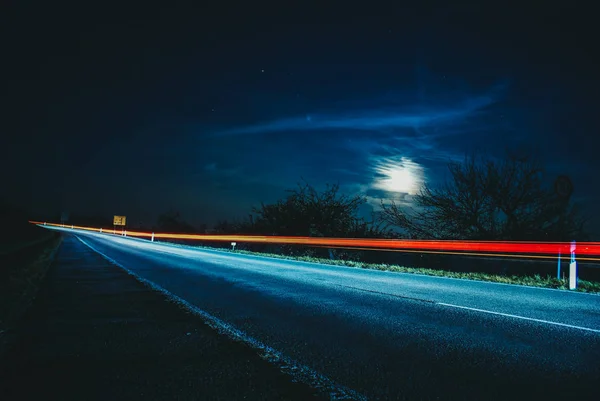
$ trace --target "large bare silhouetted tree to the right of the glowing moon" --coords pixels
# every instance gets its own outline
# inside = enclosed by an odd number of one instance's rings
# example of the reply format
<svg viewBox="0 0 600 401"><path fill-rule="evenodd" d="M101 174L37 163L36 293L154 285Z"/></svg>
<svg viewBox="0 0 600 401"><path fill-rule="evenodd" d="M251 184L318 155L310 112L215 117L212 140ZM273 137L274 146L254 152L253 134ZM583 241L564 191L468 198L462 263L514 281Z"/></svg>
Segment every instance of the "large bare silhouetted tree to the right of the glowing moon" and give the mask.
<svg viewBox="0 0 600 401"><path fill-rule="evenodd" d="M586 239L577 206L544 186L543 168L533 157L471 156L448 169L451 180L439 188L425 185L414 207L382 202L383 218L413 238Z"/></svg>

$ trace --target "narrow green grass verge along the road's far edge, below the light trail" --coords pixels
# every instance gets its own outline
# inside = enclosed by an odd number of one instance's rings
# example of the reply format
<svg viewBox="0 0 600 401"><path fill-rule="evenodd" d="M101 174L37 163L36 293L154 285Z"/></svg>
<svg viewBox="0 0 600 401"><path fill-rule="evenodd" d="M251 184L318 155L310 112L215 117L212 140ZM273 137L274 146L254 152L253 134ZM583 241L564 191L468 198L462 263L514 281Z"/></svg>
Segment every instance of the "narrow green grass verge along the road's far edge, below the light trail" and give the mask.
<svg viewBox="0 0 600 401"><path fill-rule="evenodd" d="M169 243L173 245L173 243ZM175 244L181 245L181 244ZM437 270L437 269L429 269L423 267L407 267L407 266L399 266L399 265L390 265L384 263L365 263L354 260L342 260L342 259L326 259L326 258L317 258L314 256L293 256L293 255L281 255L277 253L263 253L263 252L253 252L246 250L231 250L227 248L215 248L210 246L201 246L201 245L184 245L191 246L193 248L202 248L202 249L210 249L210 250L219 250L223 252L229 253L237 253L244 255L253 255L253 256L265 256L270 258L277 259L288 259L288 260L297 260L301 262L310 262L310 263L320 263L326 265L335 265L335 266L348 266L355 267L359 269L371 269L371 270L380 270L380 271L389 271L389 272L397 272L397 273L411 273L411 274L422 274L427 276L437 276L437 277L450 277L450 278L459 278L465 280L477 280L477 281L489 281L493 283L502 283L502 284L515 284L515 285L526 285L531 287L543 287L543 288L554 288L559 290L568 290L569 282L567 279L557 279L556 277L546 276L542 277L539 274L535 274L533 276L503 276L499 274L489 274L489 273L480 273L480 272L471 272L471 273L463 273L463 272L453 272L449 270ZM577 281L577 289L578 292L586 292L586 293L600 293L600 282L595 281L586 281L586 280L578 280Z"/></svg>

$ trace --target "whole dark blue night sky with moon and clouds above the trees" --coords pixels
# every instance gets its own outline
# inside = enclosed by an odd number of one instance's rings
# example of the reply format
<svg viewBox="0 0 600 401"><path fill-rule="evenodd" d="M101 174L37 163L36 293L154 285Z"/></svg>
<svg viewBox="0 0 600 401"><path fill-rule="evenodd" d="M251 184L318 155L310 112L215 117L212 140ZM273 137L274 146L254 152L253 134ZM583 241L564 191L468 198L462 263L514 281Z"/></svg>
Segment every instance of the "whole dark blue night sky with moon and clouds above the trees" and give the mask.
<svg viewBox="0 0 600 401"><path fill-rule="evenodd" d="M0 13L2 197L32 216L210 225L301 178L368 196L367 215L508 148L570 176L600 225L583 2L18 3Z"/></svg>

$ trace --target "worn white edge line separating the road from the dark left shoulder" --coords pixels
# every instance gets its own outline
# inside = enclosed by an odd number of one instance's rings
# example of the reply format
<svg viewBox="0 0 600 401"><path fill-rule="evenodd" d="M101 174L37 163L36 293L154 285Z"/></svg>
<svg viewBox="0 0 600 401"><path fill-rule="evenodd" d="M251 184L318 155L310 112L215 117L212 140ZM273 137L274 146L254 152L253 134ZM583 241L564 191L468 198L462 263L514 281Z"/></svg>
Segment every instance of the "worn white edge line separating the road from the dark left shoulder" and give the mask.
<svg viewBox="0 0 600 401"><path fill-rule="evenodd" d="M171 301L200 316L210 327L217 330L220 334L223 334L234 341L242 342L250 346L252 349L257 351L258 355L262 359L277 366L283 373L290 375L296 381L305 383L310 387L319 390L321 393L326 393L331 400L367 400L367 397L365 397L364 395L345 386L335 383L333 380L314 371L308 366L302 365L288 358L280 351L277 351L271 348L270 346L263 344L257 339L250 337L243 331L236 329L229 323L225 323L224 321L211 315L210 313L205 312L197 306L190 304L185 299L178 297L177 295L167 291L166 289L153 283L152 281L146 280L145 278L139 276L138 274L126 268L125 266L121 265L111 257L100 252L92 245L79 238L79 236L75 235L75 237L77 237L77 239L81 241L84 245L88 246L92 251L98 253L115 266L118 266L121 269L125 270L126 273L134 277L136 280L140 281L142 284L150 287L154 291L162 293Z"/></svg>

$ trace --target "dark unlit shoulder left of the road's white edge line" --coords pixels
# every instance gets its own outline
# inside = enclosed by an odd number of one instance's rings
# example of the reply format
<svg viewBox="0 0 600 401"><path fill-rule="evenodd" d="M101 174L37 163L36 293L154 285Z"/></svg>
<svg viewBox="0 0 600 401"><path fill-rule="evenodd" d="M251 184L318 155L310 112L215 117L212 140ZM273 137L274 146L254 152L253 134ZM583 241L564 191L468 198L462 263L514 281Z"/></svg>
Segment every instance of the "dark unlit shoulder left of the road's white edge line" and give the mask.
<svg viewBox="0 0 600 401"><path fill-rule="evenodd" d="M72 236L19 334L0 367L11 400L316 398Z"/></svg>

